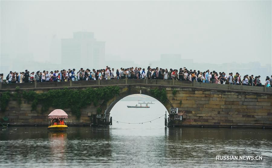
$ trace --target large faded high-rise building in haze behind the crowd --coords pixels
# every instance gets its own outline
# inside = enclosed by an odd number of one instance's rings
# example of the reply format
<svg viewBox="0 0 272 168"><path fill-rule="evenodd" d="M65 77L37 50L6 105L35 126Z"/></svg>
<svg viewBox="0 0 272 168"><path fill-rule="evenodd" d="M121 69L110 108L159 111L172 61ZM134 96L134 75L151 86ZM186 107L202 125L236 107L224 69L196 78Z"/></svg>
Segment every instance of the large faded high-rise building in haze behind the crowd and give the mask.
<svg viewBox="0 0 272 168"><path fill-rule="evenodd" d="M75 32L61 40L61 62L69 68L100 68L105 60L105 42L96 41L92 32Z"/></svg>

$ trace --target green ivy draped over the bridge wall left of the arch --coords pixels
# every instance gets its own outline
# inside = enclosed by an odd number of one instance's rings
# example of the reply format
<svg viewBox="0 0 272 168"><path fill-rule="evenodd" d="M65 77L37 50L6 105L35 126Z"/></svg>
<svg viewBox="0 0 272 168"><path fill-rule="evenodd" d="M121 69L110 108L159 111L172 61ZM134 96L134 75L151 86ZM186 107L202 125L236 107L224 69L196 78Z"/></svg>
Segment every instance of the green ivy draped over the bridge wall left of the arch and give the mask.
<svg viewBox="0 0 272 168"><path fill-rule="evenodd" d="M119 94L118 86L107 86L99 88L86 88L86 89L53 89L45 93L36 93L33 90L30 91L16 91L15 94L9 92L2 93L1 96L1 109L5 111L10 96L15 100L18 97L22 97L32 103L32 110L37 109L37 105L40 104L41 112L46 112L50 107L57 109L70 108L72 114L78 119L81 116L81 109L93 103L97 106L99 102L106 102L116 94ZM20 100L21 101L21 98ZM98 108L99 109L99 108Z"/></svg>

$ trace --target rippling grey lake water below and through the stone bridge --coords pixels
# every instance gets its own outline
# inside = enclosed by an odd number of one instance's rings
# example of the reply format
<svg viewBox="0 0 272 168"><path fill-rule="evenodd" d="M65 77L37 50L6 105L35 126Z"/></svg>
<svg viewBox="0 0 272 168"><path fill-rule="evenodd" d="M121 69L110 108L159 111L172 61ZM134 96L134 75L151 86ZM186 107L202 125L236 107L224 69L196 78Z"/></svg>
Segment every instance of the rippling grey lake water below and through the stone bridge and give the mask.
<svg viewBox="0 0 272 168"><path fill-rule="evenodd" d="M164 128L164 116L151 121L165 114L162 104L126 107L136 103L119 101L111 111L119 122L107 127L0 127L0 167L272 167L271 129Z"/></svg>

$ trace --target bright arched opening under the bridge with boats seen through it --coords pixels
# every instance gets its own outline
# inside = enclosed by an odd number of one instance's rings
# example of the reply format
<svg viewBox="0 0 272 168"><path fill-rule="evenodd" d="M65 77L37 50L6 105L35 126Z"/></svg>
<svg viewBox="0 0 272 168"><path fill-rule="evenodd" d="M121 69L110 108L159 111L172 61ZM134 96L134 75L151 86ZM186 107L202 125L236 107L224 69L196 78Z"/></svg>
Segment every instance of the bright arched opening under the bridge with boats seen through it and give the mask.
<svg viewBox="0 0 272 168"><path fill-rule="evenodd" d="M165 113L168 117L166 106L145 94L128 95L109 108L106 113L112 117L112 128L163 128Z"/></svg>

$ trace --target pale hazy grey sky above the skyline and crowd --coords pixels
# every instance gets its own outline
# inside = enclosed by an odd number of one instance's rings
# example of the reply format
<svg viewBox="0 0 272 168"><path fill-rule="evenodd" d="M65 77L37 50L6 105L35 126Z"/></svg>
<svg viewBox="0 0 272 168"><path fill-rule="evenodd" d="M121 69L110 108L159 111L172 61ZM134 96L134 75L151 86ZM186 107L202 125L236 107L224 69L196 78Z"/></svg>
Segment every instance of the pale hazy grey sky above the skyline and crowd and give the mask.
<svg viewBox="0 0 272 168"><path fill-rule="evenodd" d="M173 53L271 64L271 1L1 0L1 54L48 59L52 40L76 31L94 32L106 55L136 62Z"/></svg>

